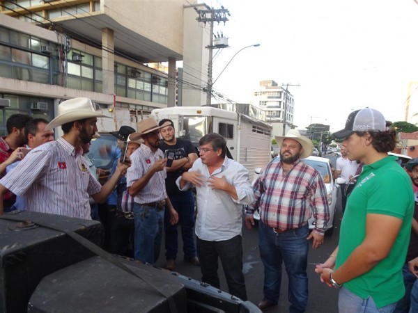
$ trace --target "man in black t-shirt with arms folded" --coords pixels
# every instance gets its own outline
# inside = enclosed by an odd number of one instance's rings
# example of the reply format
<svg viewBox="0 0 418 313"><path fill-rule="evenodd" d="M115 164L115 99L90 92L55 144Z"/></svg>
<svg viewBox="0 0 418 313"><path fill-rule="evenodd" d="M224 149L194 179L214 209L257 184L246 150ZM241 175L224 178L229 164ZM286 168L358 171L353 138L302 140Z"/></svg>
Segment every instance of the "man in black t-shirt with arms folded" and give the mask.
<svg viewBox="0 0 418 313"><path fill-rule="evenodd" d="M181 226L183 239L184 259L194 265L200 265L196 257L196 245L194 243L194 196L192 190L180 191L176 185L176 179L183 172L192 168L193 162L197 159L196 149L190 141L185 141L174 136L173 121L169 119L160 120L159 126L164 123L170 124L160 129L164 142L160 143L160 149L164 152L167 161L166 189L171 204L178 213L178 220ZM166 211L164 218L165 247L166 247L166 268L173 270L176 266L178 252L177 225L171 225L170 215Z"/></svg>

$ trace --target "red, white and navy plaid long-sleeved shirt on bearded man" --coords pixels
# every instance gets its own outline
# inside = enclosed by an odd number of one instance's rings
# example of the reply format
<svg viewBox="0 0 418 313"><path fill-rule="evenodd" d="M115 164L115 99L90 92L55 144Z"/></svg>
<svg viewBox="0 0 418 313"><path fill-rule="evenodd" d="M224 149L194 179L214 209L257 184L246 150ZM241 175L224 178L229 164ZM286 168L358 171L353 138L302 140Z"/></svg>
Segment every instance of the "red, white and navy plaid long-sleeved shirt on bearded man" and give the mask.
<svg viewBox="0 0 418 313"><path fill-rule="evenodd" d="M313 215L315 231L323 234L330 220L323 179L317 170L300 160L286 175L279 158L268 164L254 184L254 202L247 214L253 214L257 207L263 223L279 230L302 227Z"/></svg>

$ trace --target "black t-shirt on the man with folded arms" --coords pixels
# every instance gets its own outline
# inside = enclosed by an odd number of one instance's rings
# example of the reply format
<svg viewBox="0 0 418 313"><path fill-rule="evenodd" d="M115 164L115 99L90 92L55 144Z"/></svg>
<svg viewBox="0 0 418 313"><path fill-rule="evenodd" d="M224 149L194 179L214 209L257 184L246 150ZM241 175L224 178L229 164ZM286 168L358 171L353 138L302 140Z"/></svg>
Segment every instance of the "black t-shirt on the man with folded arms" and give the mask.
<svg viewBox="0 0 418 313"><path fill-rule="evenodd" d="M173 152L174 157L173 160L178 160L184 157L188 157L190 153L196 152L194 149L192 142L184 141L183 139L177 139L176 145L167 145L161 141L160 149L164 152L164 157L167 158L169 152ZM167 172L166 178L166 189L167 193L180 193L181 191L178 189L176 185L176 180L180 175L182 175L183 170L176 170L176 172Z"/></svg>

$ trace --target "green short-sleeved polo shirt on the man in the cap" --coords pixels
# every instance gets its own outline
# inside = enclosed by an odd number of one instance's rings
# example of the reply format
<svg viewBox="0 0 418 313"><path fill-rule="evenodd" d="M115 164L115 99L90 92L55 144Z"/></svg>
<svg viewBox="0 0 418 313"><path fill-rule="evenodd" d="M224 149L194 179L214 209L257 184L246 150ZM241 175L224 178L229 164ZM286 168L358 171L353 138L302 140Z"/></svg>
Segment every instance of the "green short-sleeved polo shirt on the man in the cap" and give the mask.
<svg viewBox="0 0 418 313"><path fill-rule="evenodd" d="M363 167L348 197L336 259L338 268L364 241L366 214L384 214L403 220L389 255L369 272L344 284L346 289L360 298L371 296L378 307L395 303L405 294L401 268L410 240L414 193L410 177L396 163L396 159L385 157Z"/></svg>

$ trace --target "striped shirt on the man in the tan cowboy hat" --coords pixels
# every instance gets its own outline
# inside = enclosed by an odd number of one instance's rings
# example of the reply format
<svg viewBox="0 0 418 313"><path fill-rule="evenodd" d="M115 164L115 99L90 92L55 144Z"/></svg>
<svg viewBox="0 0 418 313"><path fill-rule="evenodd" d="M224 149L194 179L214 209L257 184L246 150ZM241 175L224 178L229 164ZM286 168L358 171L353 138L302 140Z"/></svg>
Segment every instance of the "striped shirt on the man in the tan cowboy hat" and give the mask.
<svg viewBox="0 0 418 313"><path fill-rule="evenodd" d="M146 172L153 166L154 162L164 158L164 153L160 149L157 149L155 153L151 151L147 145L140 145L131 156L132 165L127 169L126 173L126 186L130 187L138 179L143 177ZM153 177L150 178L146 186L142 188L137 195L134 196L134 202L139 204L157 202L167 198L167 192L165 188L165 179L167 177L166 169L155 172Z"/></svg>

